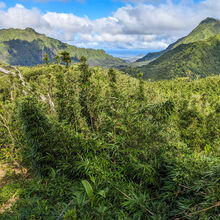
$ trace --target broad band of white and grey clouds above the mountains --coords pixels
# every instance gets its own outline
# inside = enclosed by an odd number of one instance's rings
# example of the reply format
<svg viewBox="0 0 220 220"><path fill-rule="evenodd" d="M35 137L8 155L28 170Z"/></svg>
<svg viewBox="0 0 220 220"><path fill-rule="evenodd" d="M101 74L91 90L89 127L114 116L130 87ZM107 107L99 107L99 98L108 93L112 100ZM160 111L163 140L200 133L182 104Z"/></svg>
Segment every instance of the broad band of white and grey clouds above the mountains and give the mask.
<svg viewBox="0 0 220 220"><path fill-rule="evenodd" d="M96 20L73 13L42 13L37 8L16 4L7 10L0 9L0 28L32 27L80 47L163 49L190 32L202 19L220 17L220 0L197 4L191 0L179 4L171 0L160 4L132 2L138 4L127 4L112 16Z"/></svg>

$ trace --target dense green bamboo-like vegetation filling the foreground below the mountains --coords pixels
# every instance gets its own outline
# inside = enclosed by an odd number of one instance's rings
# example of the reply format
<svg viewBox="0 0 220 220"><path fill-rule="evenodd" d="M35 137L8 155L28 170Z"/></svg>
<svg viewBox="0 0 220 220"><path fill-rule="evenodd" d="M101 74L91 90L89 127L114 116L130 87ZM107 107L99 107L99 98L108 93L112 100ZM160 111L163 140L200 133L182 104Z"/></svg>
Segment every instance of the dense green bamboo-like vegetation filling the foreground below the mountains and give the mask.
<svg viewBox="0 0 220 220"><path fill-rule="evenodd" d="M11 70L0 156L21 172L1 219L219 219L219 76L144 82L83 57Z"/></svg>

